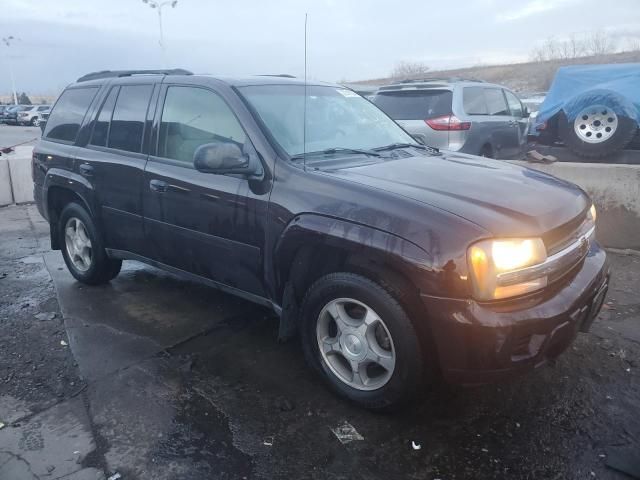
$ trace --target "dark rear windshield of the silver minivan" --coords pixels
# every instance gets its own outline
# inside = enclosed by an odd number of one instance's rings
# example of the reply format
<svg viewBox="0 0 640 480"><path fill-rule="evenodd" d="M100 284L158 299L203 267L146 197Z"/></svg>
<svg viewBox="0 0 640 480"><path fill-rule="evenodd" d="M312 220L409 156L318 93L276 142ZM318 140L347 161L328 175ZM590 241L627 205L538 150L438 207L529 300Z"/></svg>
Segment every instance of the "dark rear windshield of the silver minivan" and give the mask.
<svg viewBox="0 0 640 480"><path fill-rule="evenodd" d="M381 92L373 103L394 120L426 120L451 114L452 98L449 90Z"/></svg>

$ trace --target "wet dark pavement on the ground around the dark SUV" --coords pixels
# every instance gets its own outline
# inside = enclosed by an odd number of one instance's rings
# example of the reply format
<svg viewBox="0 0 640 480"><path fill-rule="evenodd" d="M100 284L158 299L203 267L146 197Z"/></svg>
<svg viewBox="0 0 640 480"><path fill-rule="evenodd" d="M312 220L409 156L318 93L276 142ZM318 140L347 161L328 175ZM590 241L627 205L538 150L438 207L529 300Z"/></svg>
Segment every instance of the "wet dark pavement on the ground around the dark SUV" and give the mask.
<svg viewBox="0 0 640 480"><path fill-rule="evenodd" d="M268 310L134 262L81 285L47 234L0 209L2 480L625 479L609 457L640 451L638 255L611 254L609 304L553 365L379 415L329 393Z"/></svg>

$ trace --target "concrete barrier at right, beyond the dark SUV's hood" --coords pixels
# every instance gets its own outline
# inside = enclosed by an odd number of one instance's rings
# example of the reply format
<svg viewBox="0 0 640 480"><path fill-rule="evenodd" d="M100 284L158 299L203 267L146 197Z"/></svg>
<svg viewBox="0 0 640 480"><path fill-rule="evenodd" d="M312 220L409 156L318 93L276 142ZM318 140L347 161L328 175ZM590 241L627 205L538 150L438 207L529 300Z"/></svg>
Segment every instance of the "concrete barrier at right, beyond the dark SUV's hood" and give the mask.
<svg viewBox="0 0 640 480"><path fill-rule="evenodd" d="M605 247L640 250L640 165L512 162L573 182L598 210L597 237Z"/></svg>

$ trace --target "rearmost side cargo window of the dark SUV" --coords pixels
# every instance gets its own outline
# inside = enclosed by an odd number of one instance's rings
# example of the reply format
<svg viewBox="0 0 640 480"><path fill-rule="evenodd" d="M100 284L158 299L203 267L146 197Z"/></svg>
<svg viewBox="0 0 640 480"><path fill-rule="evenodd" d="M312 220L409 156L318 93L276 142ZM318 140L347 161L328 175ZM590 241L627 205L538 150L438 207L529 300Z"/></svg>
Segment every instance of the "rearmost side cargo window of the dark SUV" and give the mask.
<svg viewBox="0 0 640 480"><path fill-rule="evenodd" d="M74 142L82 119L87 113L97 87L72 88L62 92L55 108L49 115L45 138Z"/></svg>

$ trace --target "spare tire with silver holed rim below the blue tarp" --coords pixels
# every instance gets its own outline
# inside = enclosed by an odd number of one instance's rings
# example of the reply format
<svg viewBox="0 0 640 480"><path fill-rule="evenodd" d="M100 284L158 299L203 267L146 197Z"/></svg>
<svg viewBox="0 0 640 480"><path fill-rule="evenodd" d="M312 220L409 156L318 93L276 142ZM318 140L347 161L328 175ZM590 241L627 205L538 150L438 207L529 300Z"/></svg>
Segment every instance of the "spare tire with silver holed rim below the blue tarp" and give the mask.
<svg viewBox="0 0 640 480"><path fill-rule="evenodd" d="M595 114L598 116L596 117ZM592 120L593 118L595 120ZM611 122L614 123L614 127L609 127L608 121L614 119L615 123ZM592 127L598 122L602 123ZM575 120L569 120L564 112L561 112L558 128L564 144L577 155L585 158L602 158L627 147L636 136L638 124L631 118L617 115L610 107L594 105L582 109ZM606 129L612 129L612 131L608 132ZM593 140L586 135L590 135ZM596 135L601 135L602 140Z"/></svg>

